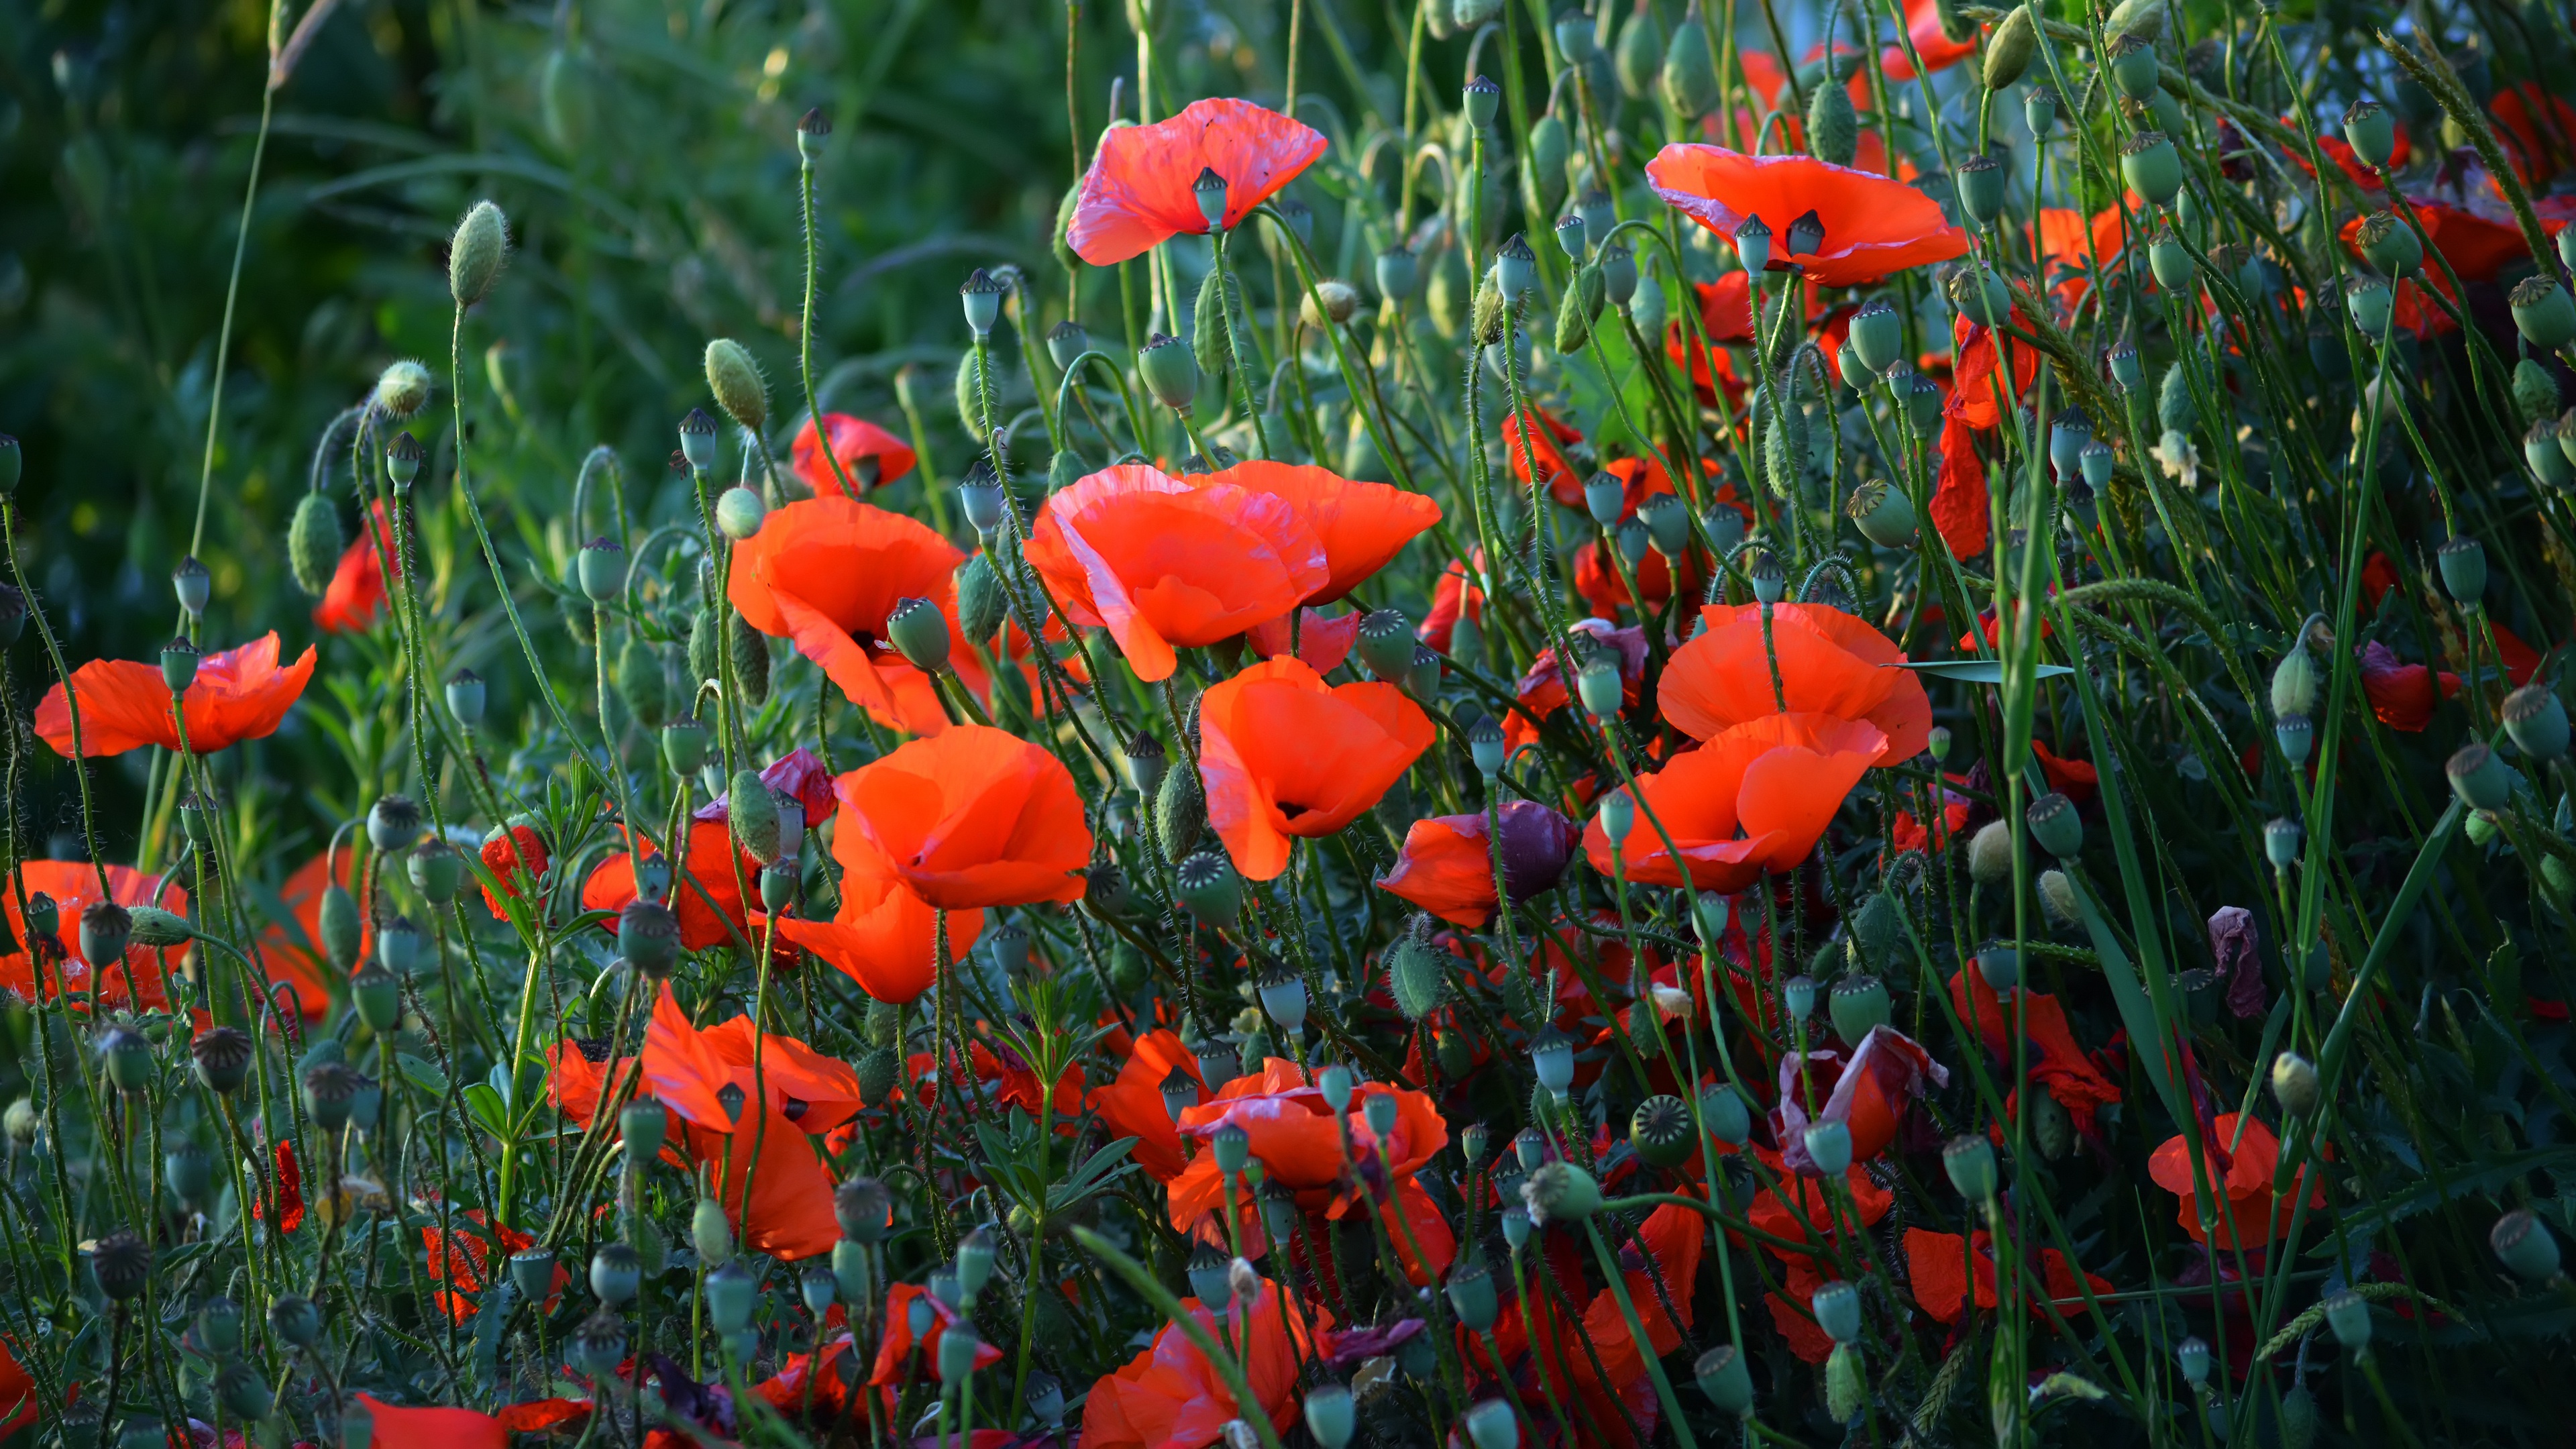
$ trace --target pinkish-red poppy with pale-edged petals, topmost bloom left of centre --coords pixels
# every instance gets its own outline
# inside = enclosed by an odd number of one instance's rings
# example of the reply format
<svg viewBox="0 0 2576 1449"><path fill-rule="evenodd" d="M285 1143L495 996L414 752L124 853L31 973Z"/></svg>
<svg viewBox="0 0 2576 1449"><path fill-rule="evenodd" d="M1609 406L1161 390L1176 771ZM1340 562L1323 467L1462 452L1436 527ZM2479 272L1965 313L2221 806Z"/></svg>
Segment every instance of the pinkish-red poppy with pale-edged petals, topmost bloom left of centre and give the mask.
<svg viewBox="0 0 2576 1449"><path fill-rule="evenodd" d="M1151 126L1110 126L1074 196L1064 245L1092 266L1118 266L1172 237L1198 237L1198 178L1226 178L1226 229L1324 155L1324 131L1249 101L1193 101Z"/></svg>

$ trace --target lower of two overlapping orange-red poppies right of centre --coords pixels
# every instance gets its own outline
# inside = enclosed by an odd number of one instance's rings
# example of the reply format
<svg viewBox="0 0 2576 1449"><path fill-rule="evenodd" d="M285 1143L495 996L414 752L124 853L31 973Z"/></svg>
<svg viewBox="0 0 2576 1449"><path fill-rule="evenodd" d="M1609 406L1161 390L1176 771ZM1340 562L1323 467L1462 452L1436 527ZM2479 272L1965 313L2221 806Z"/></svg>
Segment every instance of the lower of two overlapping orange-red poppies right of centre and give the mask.
<svg viewBox="0 0 2576 1449"><path fill-rule="evenodd" d="M1687 869L1692 887L1728 895L1767 871L1795 869L1860 776L1886 755L1888 737L1868 719L1762 714L1723 730L1662 771L1638 776L1643 807L1620 848L1620 866L1638 884L1682 884ZM1664 848L1667 833L1682 864ZM1584 828L1584 853L1592 869L1610 874L1610 835L1600 817Z"/></svg>

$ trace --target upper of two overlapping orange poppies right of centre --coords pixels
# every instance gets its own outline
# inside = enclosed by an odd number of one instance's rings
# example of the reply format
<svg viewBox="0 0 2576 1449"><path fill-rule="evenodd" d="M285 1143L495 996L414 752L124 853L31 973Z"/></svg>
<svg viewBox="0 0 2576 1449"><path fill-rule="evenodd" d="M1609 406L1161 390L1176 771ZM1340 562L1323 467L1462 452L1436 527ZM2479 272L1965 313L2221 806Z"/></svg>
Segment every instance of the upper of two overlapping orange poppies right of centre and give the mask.
<svg viewBox="0 0 2576 1449"><path fill-rule="evenodd" d="M1708 603L1708 627L1672 652L1656 683L1664 722L1710 740L1788 704L1793 714L1868 719L1888 737L1883 763L1901 766L1932 737L1932 696L1868 619L1829 603L1772 603L1770 629L1759 603ZM1767 634L1767 637L1765 637ZM1777 686L1772 657L1780 660Z"/></svg>

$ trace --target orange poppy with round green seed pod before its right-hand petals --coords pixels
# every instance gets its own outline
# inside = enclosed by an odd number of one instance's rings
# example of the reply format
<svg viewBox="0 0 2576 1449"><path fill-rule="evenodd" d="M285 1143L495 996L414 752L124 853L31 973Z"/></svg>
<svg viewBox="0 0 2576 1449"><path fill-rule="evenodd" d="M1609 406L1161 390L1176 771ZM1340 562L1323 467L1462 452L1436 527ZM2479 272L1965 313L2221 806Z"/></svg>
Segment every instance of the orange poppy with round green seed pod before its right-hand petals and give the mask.
<svg viewBox="0 0 2576 1449"><path fill-rule="evenodd" d="M757 534L734 544L726 596L752 629L793 639L868 719L938 735L948 712L930 676L884 645L886 616L904 598L938 603L948 616L951 660L961 676L974 670L979 678L956 624L961 562L966 554L927 523L835 492L773 511Z"/></svg>

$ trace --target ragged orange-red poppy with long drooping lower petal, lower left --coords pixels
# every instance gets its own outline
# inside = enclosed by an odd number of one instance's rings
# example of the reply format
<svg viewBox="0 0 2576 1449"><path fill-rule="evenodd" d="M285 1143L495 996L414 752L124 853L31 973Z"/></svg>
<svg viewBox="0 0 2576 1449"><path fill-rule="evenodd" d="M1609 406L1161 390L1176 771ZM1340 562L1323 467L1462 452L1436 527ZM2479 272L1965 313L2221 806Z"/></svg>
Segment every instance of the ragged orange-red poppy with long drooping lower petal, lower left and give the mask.
<svg viewBox="0 0 2576 1449"><path fill-rule="evenodd" d="M858 1116L858 1073L775 1031L757 1042L757 1073L752 1052L747 1016L698 1031L665 985L644 1029L644 1083L677 1119L675 1145L721 1181L744 1245L775 1258L829 1253L840 1222L811 1134ZM742 1093L739 1116L724 1088Z"/></svg>

